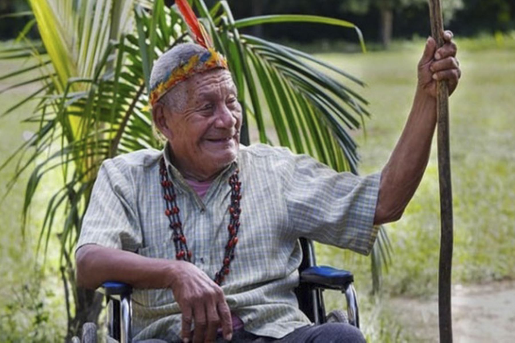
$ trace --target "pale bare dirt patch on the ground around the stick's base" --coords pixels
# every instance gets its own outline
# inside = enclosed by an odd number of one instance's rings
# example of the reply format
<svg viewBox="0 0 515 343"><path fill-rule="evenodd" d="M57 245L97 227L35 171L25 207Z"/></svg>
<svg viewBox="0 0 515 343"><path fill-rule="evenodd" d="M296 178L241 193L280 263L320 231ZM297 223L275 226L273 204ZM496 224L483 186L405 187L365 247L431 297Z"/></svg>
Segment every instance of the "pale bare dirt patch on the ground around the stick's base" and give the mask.
<svg viewBox="0 0 515 343"><path fill-rule="evenodd" d="M417 341L438 341L438 300L390 301L405 331ZM515 281L453 288L455 342L515 342Z"/></svg>

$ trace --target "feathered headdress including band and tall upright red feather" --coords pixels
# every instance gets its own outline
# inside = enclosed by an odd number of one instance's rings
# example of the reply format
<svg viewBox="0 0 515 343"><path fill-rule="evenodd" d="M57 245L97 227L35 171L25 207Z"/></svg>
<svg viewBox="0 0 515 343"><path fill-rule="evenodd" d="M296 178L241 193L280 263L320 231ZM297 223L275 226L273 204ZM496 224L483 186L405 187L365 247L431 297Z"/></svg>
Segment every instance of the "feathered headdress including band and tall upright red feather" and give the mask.
<svg viewBox="0 0 515 343"><path fill-rule="evenodd" d="M223 55L216 52L213 47L213 41L208 32L200 24L193 9L186 0L176 0L175 4L181 12L184 22L190 29L190 33L197 44L203 46L208 51L202 54L194 55L187 62L165 73L166 77L151 85L150 89L150 105L156 102L172 89L177 83L184 81L195 74L199 74L215 68L227 69L227 60Z"/></svg>

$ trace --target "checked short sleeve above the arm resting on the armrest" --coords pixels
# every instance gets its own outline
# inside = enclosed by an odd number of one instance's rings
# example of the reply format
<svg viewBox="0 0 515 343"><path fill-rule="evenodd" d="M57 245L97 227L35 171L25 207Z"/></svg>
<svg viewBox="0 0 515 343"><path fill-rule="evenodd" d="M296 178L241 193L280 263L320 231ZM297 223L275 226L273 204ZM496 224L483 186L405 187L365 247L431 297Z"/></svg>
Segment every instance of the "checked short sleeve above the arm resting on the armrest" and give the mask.
<svg viewBox="0 0 515 343"><path fill-rule="evenodd" d="M129 167L120 163L119 160L106 160L100 166L82 220L77 249L87 244L98 244L136 251L141 246L134 182L131 181Z"/></svg>

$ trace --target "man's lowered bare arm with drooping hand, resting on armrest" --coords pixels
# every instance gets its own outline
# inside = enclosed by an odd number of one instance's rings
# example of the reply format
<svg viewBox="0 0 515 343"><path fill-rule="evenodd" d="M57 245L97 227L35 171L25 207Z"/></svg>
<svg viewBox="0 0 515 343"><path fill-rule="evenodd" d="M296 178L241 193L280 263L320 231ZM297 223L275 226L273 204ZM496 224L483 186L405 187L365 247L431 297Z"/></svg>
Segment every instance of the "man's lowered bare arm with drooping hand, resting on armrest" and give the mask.
<svg viewBox="0 0 515 343"><path fill-rule="evenodd" d="M152 259L129 251L85 245L77 250L77 283L97 288L106 281L119 281L134 288L170 288L182 312L182 338L195 341L216 336L221 327L231 340L232 321L224 292L203 271L185 261Z"/></svg>

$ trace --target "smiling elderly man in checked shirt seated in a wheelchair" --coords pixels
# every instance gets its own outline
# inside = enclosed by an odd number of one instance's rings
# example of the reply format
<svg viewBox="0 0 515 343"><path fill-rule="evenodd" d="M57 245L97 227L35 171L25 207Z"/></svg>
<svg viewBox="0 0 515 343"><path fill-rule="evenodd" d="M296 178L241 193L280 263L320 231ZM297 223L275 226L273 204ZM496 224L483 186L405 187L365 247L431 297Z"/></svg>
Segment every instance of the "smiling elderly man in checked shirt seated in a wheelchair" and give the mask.
<svg viewBox="0 0 515 343"><path fill-rule="evenodd" d="M401 217L430 155L436 80L456 88L452 34L428 39L413 108L381 174L338 174L307 156L239 145L241 106L223 57L182 44L151 75L163 151L106 160L77 250L79 285L133 285L134 339L364 341L310 325L293 293L299 237L369 253L375 225ZM193 331L192 331L193 330Z"/></svg>

